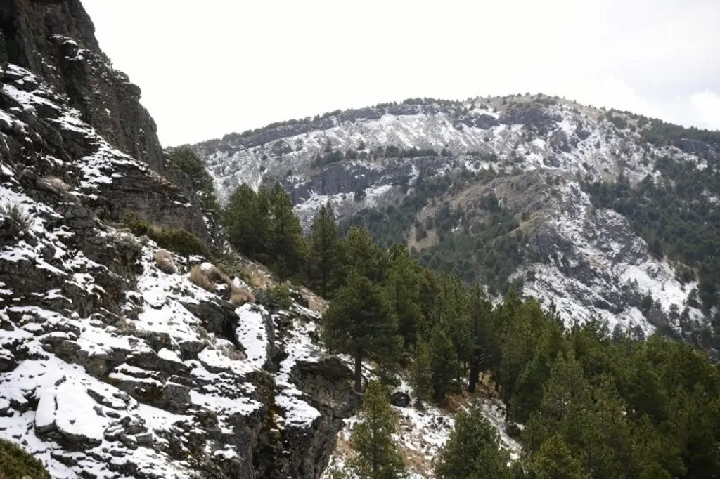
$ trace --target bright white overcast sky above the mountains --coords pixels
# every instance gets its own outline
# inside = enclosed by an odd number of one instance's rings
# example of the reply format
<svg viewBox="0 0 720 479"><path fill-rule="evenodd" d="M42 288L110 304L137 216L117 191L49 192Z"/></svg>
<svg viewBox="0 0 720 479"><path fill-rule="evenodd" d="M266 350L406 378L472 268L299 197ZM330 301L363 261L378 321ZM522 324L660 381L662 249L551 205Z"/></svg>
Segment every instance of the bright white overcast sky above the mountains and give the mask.
<svg viewBox="0 0 720 479"><path fill-rule="evenodd" d="M82 0L163 146L418 96L720 129L720 0Z"/></svg>

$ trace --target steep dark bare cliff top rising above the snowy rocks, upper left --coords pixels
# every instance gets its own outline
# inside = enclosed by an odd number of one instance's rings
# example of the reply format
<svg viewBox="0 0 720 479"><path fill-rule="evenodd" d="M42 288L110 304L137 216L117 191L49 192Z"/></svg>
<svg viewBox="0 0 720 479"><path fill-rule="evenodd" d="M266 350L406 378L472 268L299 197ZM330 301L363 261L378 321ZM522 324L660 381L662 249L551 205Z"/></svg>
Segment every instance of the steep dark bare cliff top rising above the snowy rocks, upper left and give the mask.
<svg viewBox="0 0 720 479"><path fill-rule="evenodd" d="M111 145L163 173L157 127L140 105L140 88L112 68L80 0L4 1L0 29L0 55L9 63L66 94Z"/></svg>

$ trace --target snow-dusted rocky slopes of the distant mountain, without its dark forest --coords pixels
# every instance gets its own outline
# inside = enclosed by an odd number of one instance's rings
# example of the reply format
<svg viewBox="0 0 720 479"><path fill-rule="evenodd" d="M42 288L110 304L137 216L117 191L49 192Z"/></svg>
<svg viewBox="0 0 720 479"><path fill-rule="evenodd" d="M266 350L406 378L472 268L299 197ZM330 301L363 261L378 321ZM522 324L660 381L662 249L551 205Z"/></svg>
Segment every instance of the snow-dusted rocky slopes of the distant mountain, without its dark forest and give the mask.
<svg viewBox="0 0 720 479"><path fill-rule="evenodd" d="M221 200L240 183L280 181L305 227L326 204L349 224L377 226L412 216L396 224L421 258L451 234L466 230L472 237L487 218L480 202L492 193L519 223L511 234L522 237L518 247L526 254L510 279L522 280L524 293L553 302L566 321L596 316L611 328L648 334L657 327L678 332L676 309L693 327L707 324L713 311L703 314L693 301L697 280L680 283L677 261L649 255L631 222L594 206L584 188L621 178L630 185L643 178L665 181L657 169L661 158L698 170L720 158L718 143L683 137L654 142L654 129L643 117L542 95L417 99L273 124L194 149ZM449 187L431 196L420 182L433 178L449 178ZM404 209L413 194L412 201L421 194L422 208ZM431 220L443 219L437 215L445 203L459 217L438 234L430 231ZM363 214L369 219L354 222ZM466 256L477 248L469 247ZM641 311L648 294L657 301Z"/></svg>

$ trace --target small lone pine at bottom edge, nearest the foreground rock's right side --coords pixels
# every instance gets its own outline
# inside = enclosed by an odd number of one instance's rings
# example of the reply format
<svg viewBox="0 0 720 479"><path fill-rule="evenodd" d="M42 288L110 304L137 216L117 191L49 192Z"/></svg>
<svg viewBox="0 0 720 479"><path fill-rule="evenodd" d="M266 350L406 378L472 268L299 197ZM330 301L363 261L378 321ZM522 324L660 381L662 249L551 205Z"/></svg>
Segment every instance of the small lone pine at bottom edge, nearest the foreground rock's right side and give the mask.
<svg viewBox="0 0 720 479"><path fill-rule="evenodd" d="M356 457L348 460L348 470L358 479L404 478L405 466L392 438L397 416L387 388L379 381L370 381L365 388L360 418L350 437Z"/></svg>

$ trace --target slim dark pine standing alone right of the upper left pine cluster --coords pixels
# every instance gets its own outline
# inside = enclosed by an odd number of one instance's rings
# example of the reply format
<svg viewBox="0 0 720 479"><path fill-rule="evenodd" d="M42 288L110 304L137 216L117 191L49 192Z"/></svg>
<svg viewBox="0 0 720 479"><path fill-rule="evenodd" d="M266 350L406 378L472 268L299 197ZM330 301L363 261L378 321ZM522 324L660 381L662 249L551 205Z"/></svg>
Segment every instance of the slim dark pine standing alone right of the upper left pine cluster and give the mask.
<svg viewBox="0 0 720 479"><path fill-rule="evenodd" d="M338 268L338 228L325 206L310 227L310 288L328 297Z"/></svg>

